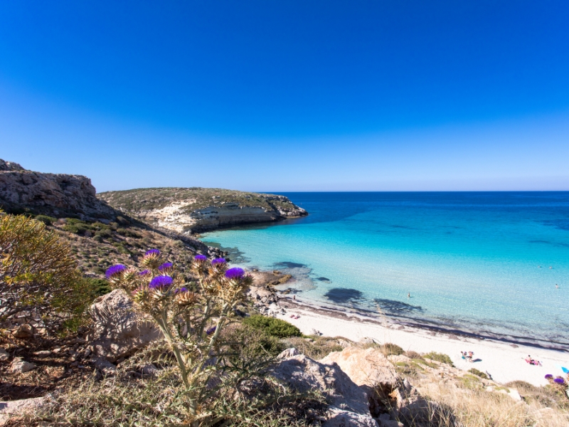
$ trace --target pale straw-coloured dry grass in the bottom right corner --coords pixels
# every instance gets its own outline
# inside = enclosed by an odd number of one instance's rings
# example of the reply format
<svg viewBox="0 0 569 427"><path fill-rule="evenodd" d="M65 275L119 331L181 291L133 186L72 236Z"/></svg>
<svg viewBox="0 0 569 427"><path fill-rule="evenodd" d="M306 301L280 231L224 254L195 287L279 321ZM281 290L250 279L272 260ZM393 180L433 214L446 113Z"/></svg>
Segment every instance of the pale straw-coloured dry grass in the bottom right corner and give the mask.
<svg viewBox="0 0 569 427"><path fill-rule="evenodd" d="M544 406L538 399L516 401L505 393L457 386L435 375L417 386L437 413L440 427L569 426L569 412L562 405Z"/></svg>

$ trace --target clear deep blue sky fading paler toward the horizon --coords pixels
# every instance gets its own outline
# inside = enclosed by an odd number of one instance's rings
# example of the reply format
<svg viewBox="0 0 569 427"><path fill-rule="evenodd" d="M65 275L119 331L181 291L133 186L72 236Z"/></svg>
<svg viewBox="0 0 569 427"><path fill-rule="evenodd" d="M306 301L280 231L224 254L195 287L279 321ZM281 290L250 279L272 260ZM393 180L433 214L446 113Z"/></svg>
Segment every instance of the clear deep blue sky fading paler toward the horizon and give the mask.
<svg viewBox="0 0 569 427"><path fill-rule="evenodd" d="M569 2L1 1L0 157L98 191L569 190Z"/></svg>

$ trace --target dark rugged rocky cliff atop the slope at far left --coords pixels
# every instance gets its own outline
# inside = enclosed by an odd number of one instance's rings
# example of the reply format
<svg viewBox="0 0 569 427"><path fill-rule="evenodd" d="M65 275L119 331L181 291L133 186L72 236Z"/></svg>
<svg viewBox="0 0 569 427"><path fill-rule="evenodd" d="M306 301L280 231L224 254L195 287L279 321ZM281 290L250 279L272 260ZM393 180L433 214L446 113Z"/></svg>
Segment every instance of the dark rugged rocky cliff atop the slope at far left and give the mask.
<svg viewBox="0 0 569 427"><path fill-rule="evenodd" d="M0 206L6 211L87 220L115 218L115 210L95 193L86 176L32 172L0 159Z"/></svg>

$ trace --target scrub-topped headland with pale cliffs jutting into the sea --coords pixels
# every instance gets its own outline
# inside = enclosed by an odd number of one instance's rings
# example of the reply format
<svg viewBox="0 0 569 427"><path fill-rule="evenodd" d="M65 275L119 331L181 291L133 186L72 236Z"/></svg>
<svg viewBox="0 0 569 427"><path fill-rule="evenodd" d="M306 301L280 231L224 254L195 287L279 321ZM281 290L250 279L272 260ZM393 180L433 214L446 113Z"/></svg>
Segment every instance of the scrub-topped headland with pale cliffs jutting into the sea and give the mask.
<svg viewBox="0 0 569 427"><path fill-rule="evenodd" d="M136 189L97 196L119 211L178 233L307 215L285 196L224 189Z"/></svg>

